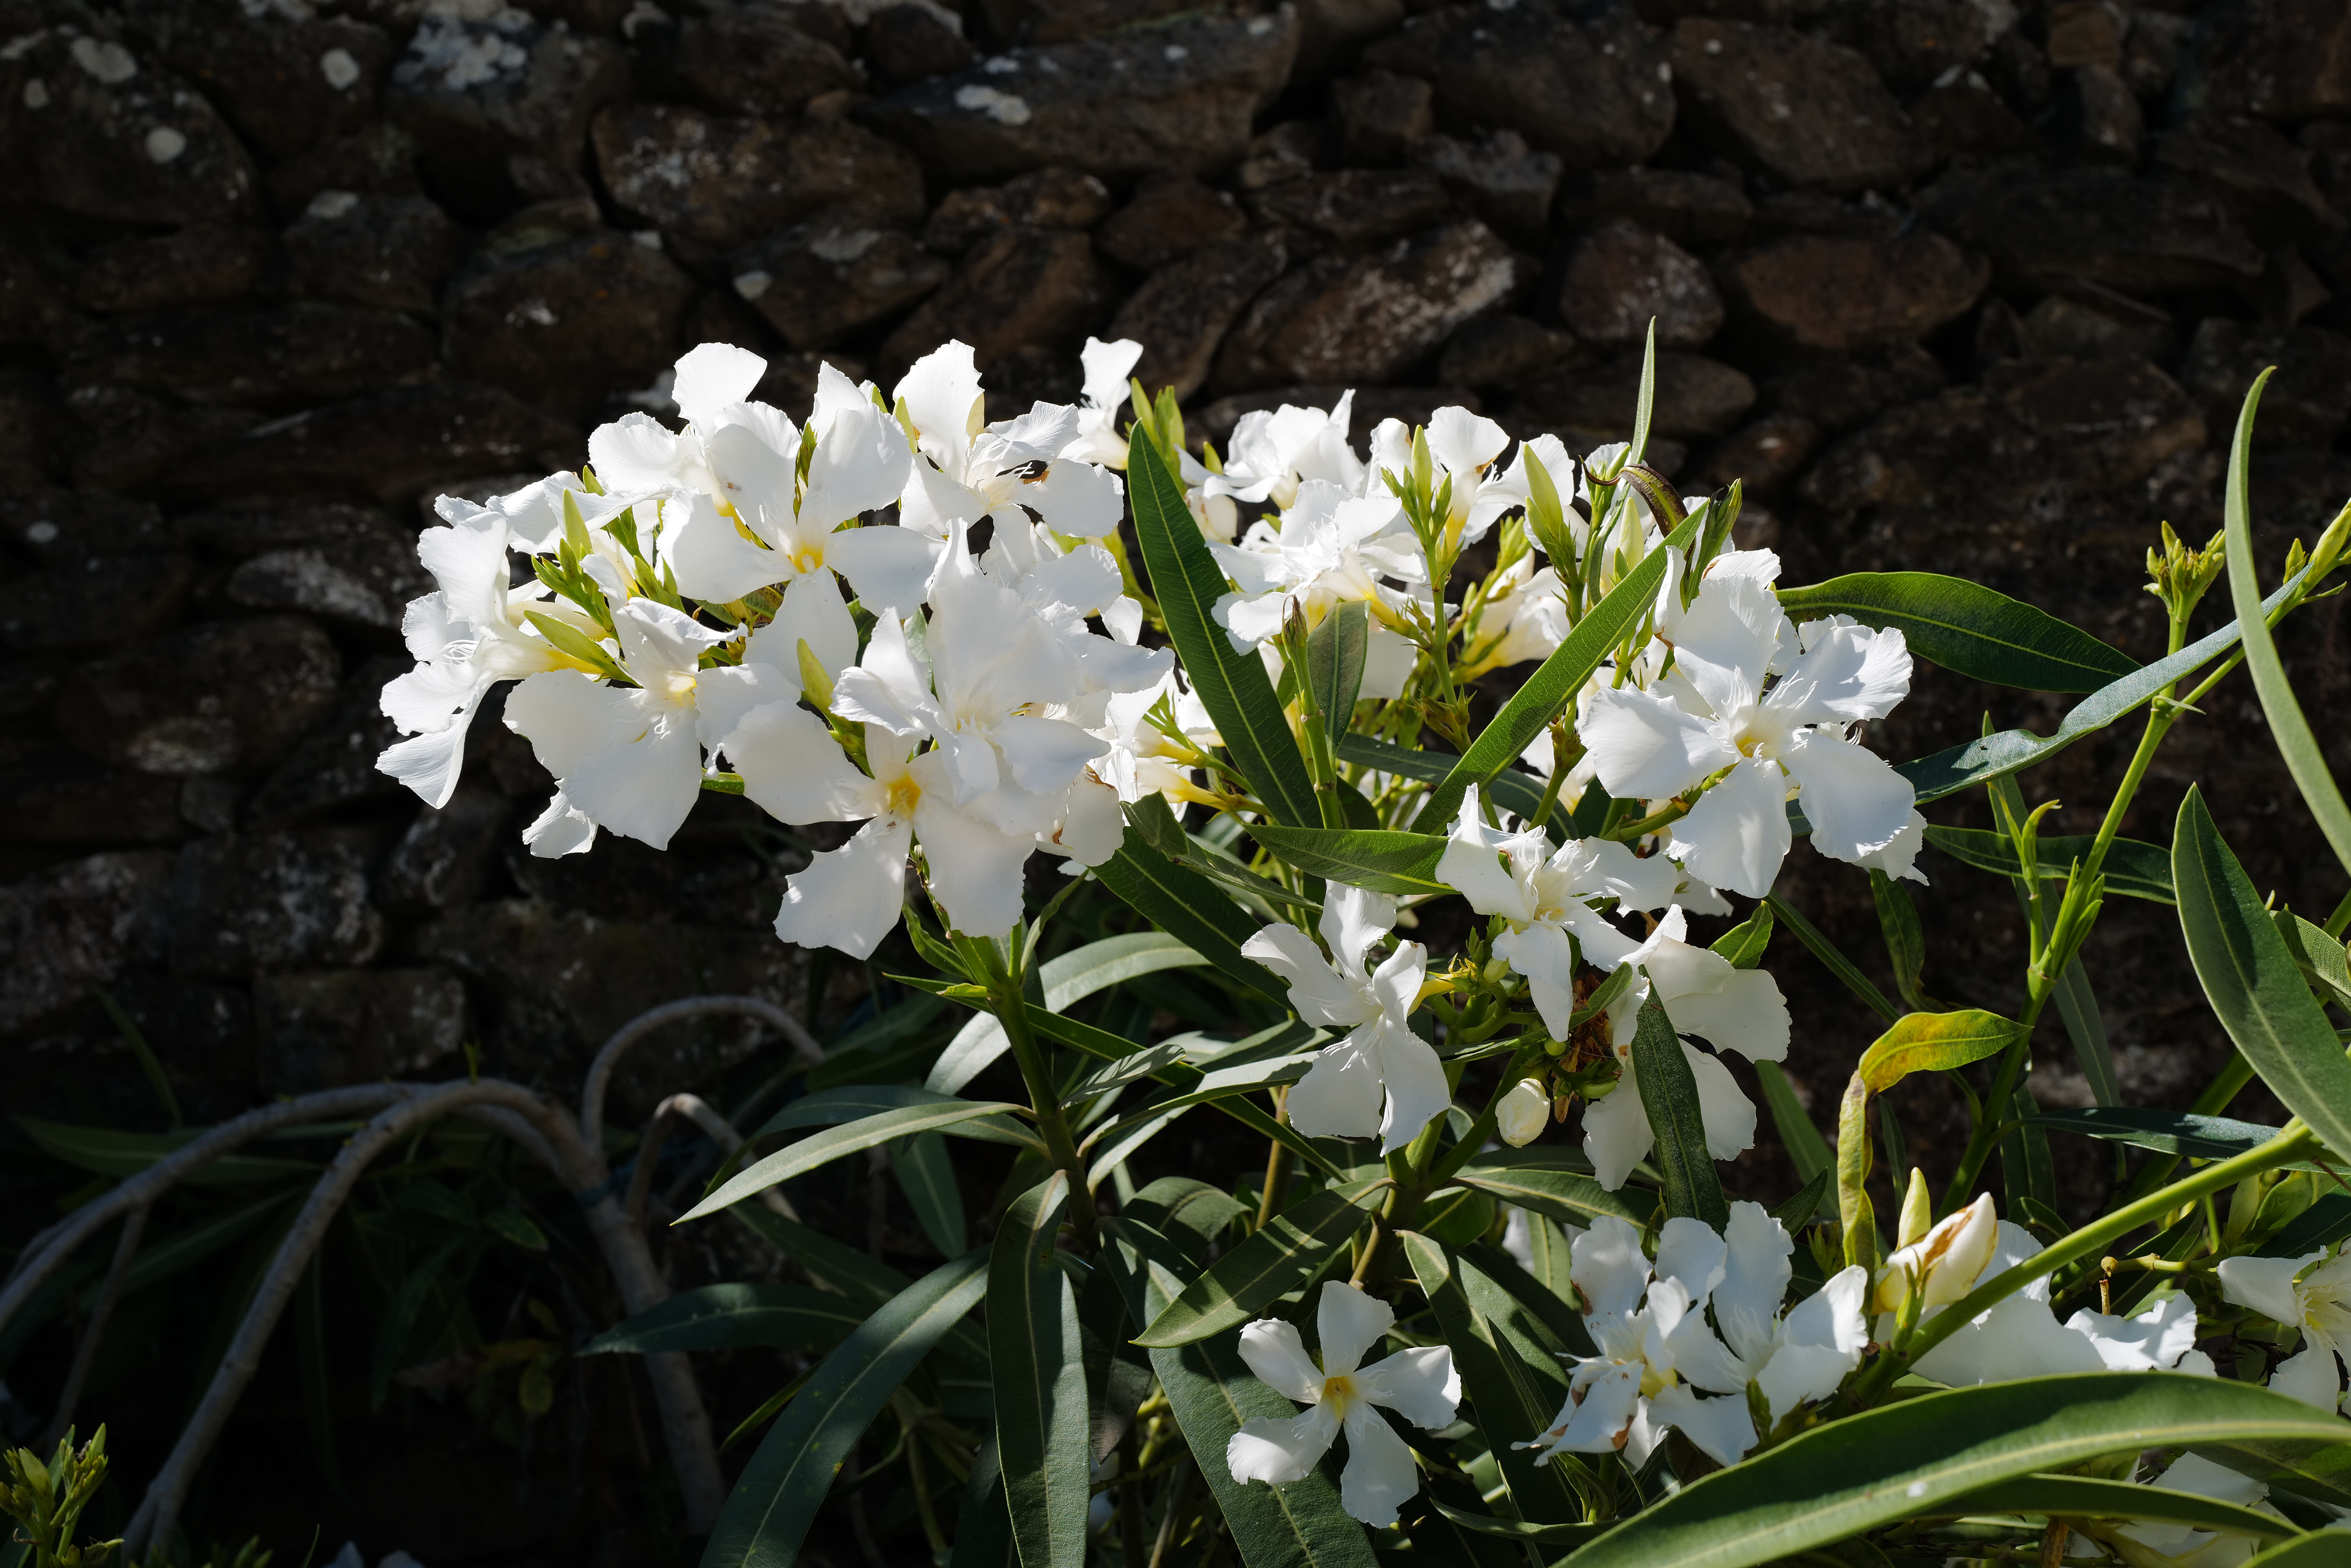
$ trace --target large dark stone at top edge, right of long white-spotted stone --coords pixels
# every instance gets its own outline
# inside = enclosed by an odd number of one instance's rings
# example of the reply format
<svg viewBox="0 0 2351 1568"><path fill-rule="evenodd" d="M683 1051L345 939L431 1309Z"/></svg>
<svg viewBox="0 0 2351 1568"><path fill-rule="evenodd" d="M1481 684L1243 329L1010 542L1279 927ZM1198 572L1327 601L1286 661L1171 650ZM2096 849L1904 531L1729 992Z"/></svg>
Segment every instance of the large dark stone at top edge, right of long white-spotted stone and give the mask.
<svg viewBox="0 0 2351 1568"><path fill-rule="evenodd" d="M1514 129L1570 169L1643 162L1674 129L1665 49L1627 12L1580 26L1545 0L1448 5L1364 63L1427 78L1446 122Z"/></svg>

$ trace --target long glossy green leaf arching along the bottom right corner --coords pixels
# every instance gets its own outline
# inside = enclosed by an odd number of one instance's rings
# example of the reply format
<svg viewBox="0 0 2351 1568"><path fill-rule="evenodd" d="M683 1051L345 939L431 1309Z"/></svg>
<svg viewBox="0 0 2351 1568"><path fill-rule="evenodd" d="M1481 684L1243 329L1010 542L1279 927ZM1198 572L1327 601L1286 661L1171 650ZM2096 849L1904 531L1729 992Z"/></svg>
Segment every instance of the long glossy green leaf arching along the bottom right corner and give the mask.
<svg viewBox="0 0 2351 1568"><path fill-rule="evenodd" d="M1566 1568L1754 1568L2106 1453L2196 1446L2233 1462L2224 1453L2248 1458L2243 1446L2262 1441L2342 1448L2342 1418L2283 1394L2184 1373L1944 1389L1827 1422L1704 1476L1570 1554Z"/></svg>

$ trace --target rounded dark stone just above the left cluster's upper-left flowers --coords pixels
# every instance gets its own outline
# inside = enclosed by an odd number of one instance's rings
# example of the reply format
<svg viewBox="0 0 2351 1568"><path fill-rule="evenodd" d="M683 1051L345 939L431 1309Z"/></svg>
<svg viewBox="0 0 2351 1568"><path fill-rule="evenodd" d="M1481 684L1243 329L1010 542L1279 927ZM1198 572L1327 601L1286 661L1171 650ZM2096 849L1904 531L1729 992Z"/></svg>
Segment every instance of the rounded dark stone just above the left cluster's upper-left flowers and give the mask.
<svg viewBox="0 0 2351 1568"><path fill-rule="evenodd" d="M611 230L482 254L442 301L442 350L458 376L588 416L670 367L691 299L658 247Z"/></svg>

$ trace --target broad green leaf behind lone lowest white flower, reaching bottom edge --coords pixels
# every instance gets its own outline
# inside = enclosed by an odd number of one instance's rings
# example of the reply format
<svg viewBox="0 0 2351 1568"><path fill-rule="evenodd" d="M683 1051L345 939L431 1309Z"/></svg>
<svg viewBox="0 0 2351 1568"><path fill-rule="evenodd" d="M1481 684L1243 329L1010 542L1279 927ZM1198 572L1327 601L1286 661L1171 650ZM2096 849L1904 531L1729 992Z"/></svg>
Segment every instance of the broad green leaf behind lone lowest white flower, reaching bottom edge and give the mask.
<svg viewBox="0 0 2351 1568"><path fill-rule="evenodd" d="M1176 1276L1152 1260L1140 1269L1143 1309L1164 1316ZM1378 1568L1364 1526L1340 1507L1331 1465L1284 1486L1232 1479L1225 1446L1246 1422L1298 1418L1298 1406L1248 1371L1234 1335L1152 1349L1152 1371L1248 1568Z"/></svg>

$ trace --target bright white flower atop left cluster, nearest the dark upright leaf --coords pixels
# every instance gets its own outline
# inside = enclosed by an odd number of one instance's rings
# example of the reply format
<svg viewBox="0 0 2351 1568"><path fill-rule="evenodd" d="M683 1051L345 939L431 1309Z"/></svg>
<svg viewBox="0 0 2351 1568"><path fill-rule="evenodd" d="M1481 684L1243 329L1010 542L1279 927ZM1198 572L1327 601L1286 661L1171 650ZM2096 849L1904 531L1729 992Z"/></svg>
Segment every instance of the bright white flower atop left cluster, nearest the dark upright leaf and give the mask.
<svg viewBox="0 0 2351 1568"><path fill-rule="evenodd" d="M945 343L898 381L898 404L915 433L915 465L898 501L905 527L947 538L952 524L994 517L1100 538L1126 515L1119 477L1060 456L1079 437L1079 411L1039 402L1020 418L983 423L980 371L969 343Z"/></svg>

